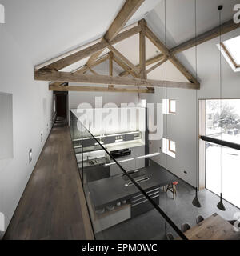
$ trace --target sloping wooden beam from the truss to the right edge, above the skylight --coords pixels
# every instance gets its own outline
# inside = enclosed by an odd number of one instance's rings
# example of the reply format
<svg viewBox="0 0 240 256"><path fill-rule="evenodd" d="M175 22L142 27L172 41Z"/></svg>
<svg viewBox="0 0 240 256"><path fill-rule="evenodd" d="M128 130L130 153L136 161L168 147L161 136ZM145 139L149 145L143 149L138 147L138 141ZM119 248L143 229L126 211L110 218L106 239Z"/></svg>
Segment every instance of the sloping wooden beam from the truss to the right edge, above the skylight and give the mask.
<svg viewBox="0 0 240 256"><path fill-rule="evenodd" d="M178 54L183 50L188 50L196 45L198 46L202 44L203 42L207 42L213 38L217 38L220 35L220 28L221 34L226 34L232 30L240 28L240 23L236 24L234 23L233 19L230 19L230 21L223 23L221 26L216 26L214 27L214 29L208 30L205 33L198 35L197 38L191 38L186 42L182 42L180 45L172 48L170 50L170 54Z"/></svg>

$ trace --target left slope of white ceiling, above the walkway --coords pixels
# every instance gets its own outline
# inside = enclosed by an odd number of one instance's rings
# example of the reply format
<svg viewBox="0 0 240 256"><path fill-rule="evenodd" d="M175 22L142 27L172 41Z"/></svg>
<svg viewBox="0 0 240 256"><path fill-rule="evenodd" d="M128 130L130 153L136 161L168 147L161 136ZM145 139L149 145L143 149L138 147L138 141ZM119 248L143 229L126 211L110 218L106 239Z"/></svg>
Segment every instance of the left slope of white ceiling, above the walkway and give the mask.
<svg viewBox="0 0 240 256"><path fill-rule="evenodd" d="M146 0L128 24L143 18L159 2ZM8 6L6 31L10 31L7 27L14 31L10 37L38 65L101 38L125 0L2 0L1 3Z"/></svg>

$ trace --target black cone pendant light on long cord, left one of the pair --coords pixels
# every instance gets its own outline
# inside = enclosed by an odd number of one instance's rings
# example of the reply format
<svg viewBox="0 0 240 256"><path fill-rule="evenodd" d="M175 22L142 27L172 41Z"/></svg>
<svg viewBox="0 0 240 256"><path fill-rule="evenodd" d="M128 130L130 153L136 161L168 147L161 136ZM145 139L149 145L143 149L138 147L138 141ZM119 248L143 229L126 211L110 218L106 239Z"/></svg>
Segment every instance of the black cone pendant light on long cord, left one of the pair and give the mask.
<svg viewBox="0 0 240 256"><path fill-rule="evenodd" d="M196 79L198 79L198 48L197 48L197 0L195 0L195 66L196 66ZM198 90L196 90L196 111L198 110ZM198 114L196 113L196 127L198 124ZM198 146L198 136L196 134L196 146ZM198 150L196 148L196 194L192 202L193 206L200 208L201 203L198 200Z"/></svg>

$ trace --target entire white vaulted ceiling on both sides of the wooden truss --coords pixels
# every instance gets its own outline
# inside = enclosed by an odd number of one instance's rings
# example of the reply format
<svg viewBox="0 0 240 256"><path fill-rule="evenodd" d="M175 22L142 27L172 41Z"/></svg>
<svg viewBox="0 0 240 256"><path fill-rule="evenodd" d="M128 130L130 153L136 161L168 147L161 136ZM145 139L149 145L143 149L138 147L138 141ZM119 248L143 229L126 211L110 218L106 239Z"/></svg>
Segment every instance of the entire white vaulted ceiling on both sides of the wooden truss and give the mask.
<svg viewBox="0 0 240 256"><path fill-rule="evenodd" d="M27 52L32 56L32 64L35 66L101 38L125 1L22 0L9 2L2 0L3 4L6 2L8 2L7 6L11 6L11 8L6 8L6 28L9 26L10 31L14 31L9 36L14 39L22 52ZM126 26L145 18L154 34L165 42L164 3L164 0L146 0ZM166 45L169 48L194 38L194 3L195 0L166 0ZM218 26L217 7L219 4L224 5L222 22L230 20L233 16L233 6L236 3L239 3L239 0L197 0L197 33L201 34ZM16 11L9 12L8 9ZM15 26L16 23L18 26ZM138 41L138 35L136 35L119 42L115 47L131 62L138 64ZM158 49L147 39L146 58L154 57L159 53ZM194 74L194 49L182 52L177 57ZM88 58L74 63L65 71L76 70L87 60ZM94 70L103 69L104 71L106 66L105 62L94 67ZM115 67L116 71L122 70L119 66ZM170 62L152 71L148 78L163 79L165 74L171 81L187 82L186 78Z"/></svg>

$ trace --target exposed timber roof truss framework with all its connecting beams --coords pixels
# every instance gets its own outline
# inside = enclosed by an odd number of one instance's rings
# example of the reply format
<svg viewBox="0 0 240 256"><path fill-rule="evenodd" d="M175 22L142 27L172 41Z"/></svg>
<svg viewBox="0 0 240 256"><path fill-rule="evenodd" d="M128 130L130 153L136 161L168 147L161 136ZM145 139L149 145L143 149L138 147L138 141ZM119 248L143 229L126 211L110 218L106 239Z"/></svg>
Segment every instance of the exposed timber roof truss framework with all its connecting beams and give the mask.
<svg viewBox="0 0 240 256"><path fill-rule="evenodd" d="M110 91L110 92L138 92L138 93L153 93L155 86L157 87L173 87L173 88L187 88L199 89L200 84L190 71L179 62L175 54L183 50L190 49L212 38L216 38L220 33L220 26L215 27L203 34L198 35L197 38L192 38L183 42L179 46L172 49L162 43L152 30L147 26L146 21L142 19L135 26L122 30L130 17L138 10L144 0L126 0L124 6L118 13L114 22L111 24L109 30L98 42L91 43L90 46L82 47L81 49L74 50L69 54L62 55L53 61L46 62L40 66L35 67L35 79L50 82L50 90L78 90L78 91ZM235 24L232 20L222 24L222 34L230 32L240 27L240 24ZM134 34L139 34L139 64L134 65L126 56L120 53L114 46L118 42L130 38ZM146 38L153 42L154 46L161 51L161 54L146 59ZM110 53L102 56L105 49L109 49ZM101 56L100 56L101 55ZM70 66L75 62L89 57L86 65L78 70L72 72L62 72L66 66ZM102 62L109 60L109 75L99 75L95 66ZM164 62L169 60L176 66L176 68L189 80L189 82L171 82L171 81L158 81L147 79L147 74L161 66ZM114 77L113 62L121 66L124 70L119 77ZM146 66L151 66L146 69ZM86 72L90 71L90 75ZM126 75L132 75L132 78L124 78ZM78 82L87 84L106 85L105 87L96 86L68 86L68 82ZM119 88L118 86L126 86L126 88ZM127 87L131 86L131 88ZM132 88L132 86L136 86ZM77 88L79 87L79 88Z"/></svg>

